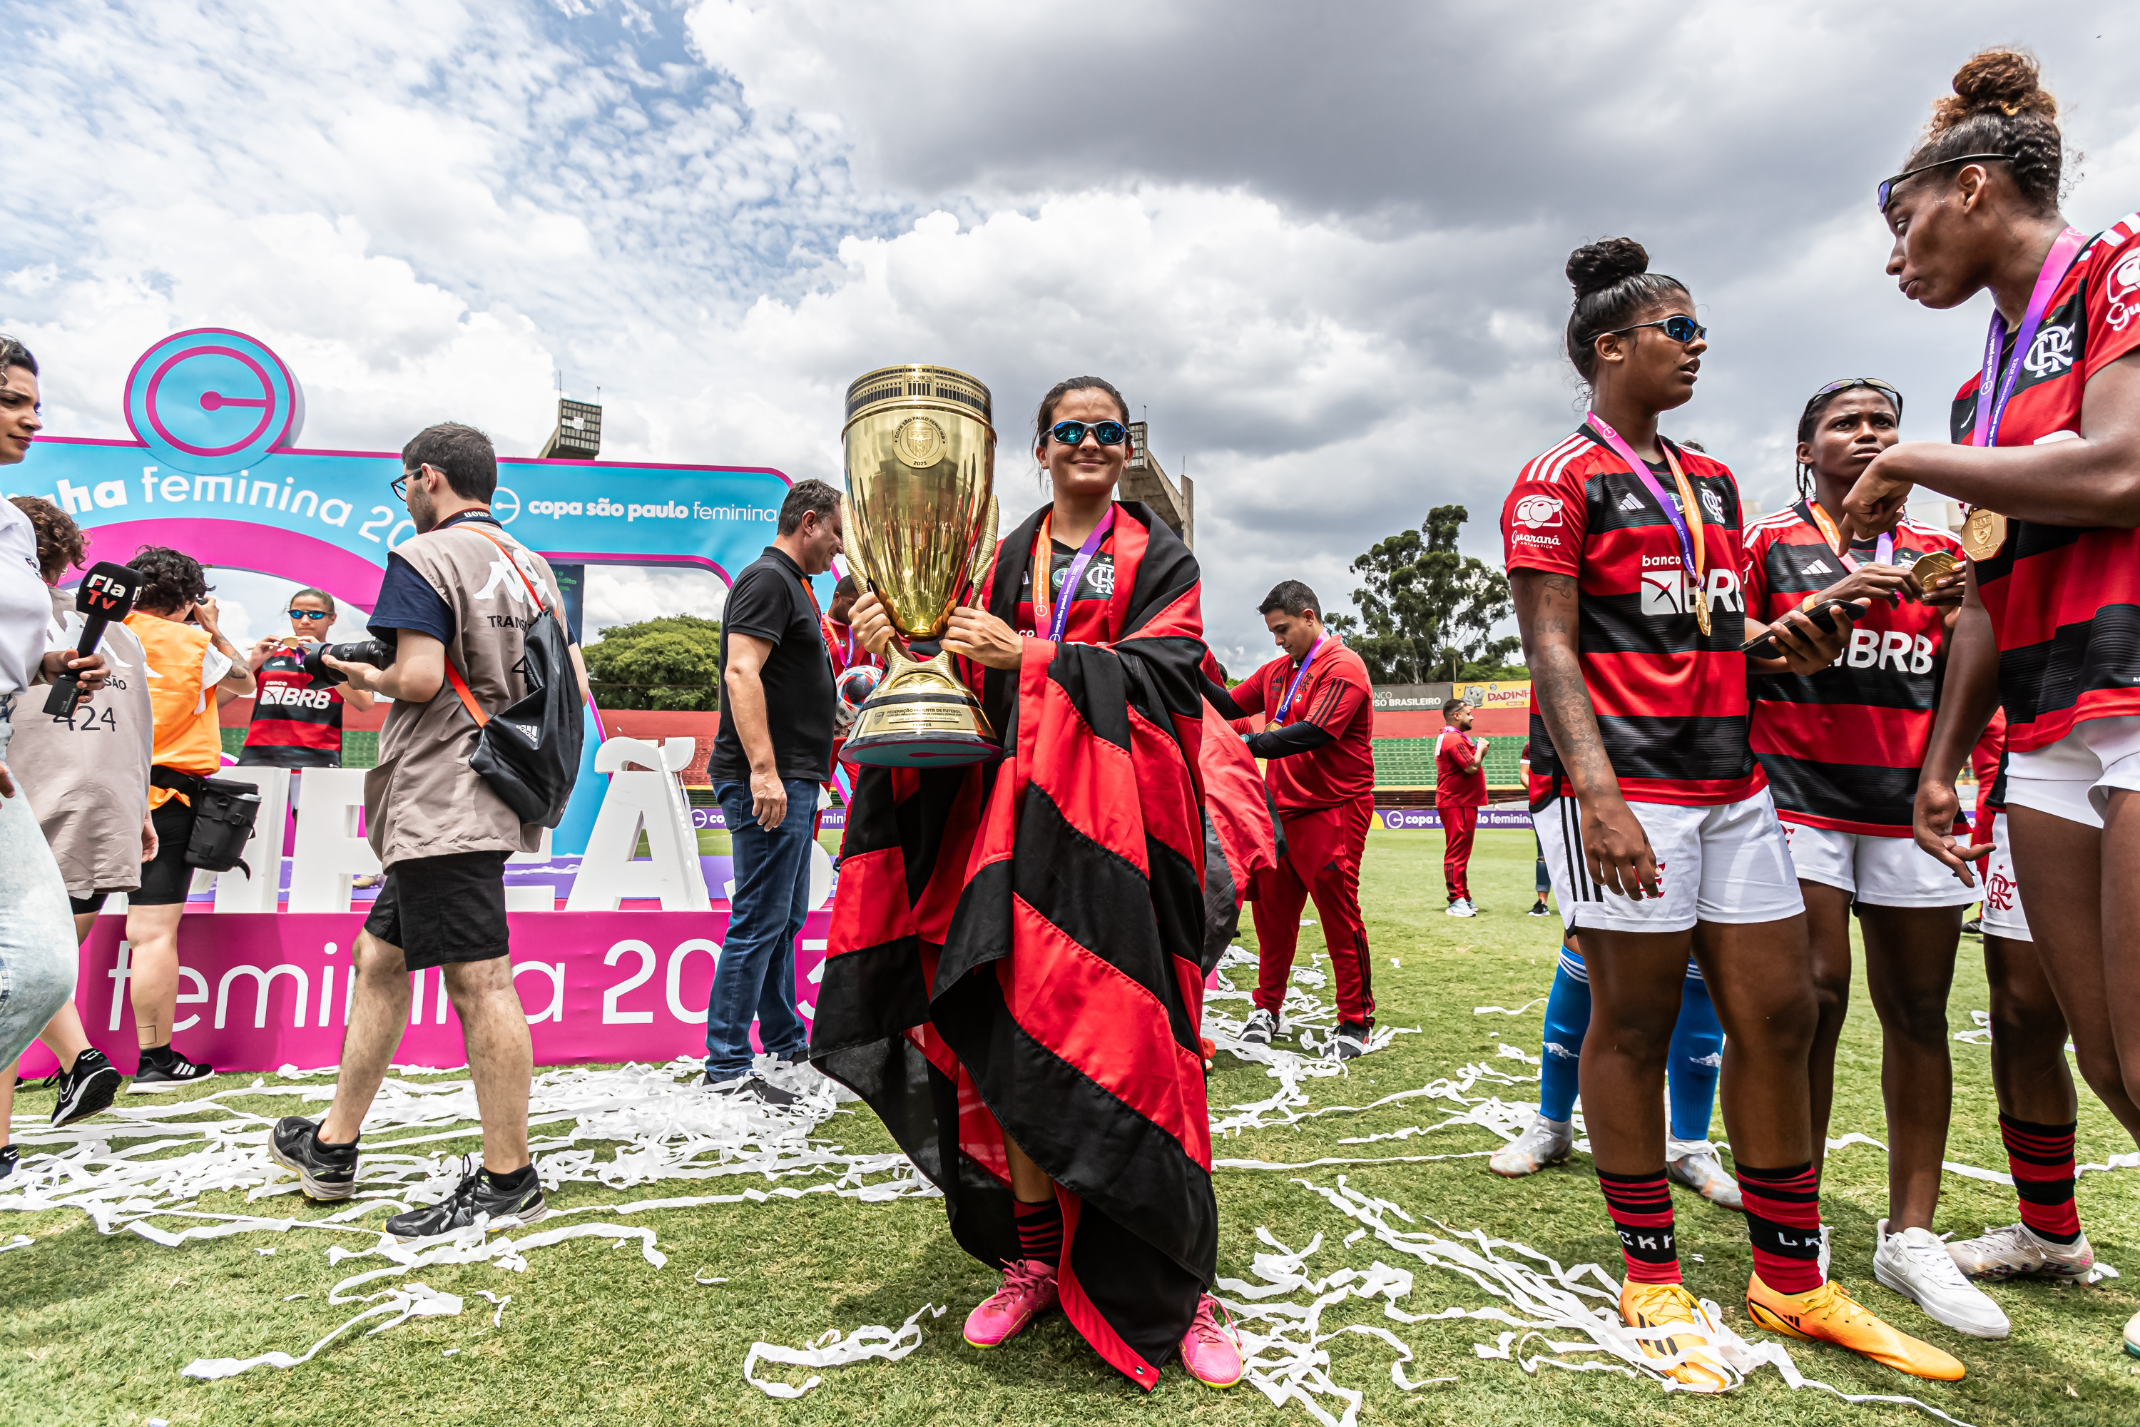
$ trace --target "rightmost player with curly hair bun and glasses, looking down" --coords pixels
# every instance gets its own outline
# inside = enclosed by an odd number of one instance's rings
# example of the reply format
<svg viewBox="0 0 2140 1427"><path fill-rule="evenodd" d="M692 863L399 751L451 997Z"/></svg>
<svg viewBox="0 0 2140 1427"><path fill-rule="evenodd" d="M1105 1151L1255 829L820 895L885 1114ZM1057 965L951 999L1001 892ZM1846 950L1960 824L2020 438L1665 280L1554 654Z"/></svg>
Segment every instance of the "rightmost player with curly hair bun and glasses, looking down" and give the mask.
<svg viewBox="0 0 2140 1427"><path fill-rule="evenodd" d="M2005 828L2035 950L2080 1072L2140 1125L2140 214L2089 237L2059 212L2059 103L2037 62L1973 56L1902 171L1877 188L1902 295L1992 295L1954 445L1879 456L1845 509L1879 528L1924 486L1969 507L1969 584L1924 777L1917 843L1965 884L1954 772L2007 717ZM1965 657L1982 648L1986 657ZM1990 678L1997 650L1997 687ZM2063 1061L2035 1115L2001 1104L2022 1222L1950 1243L1965 1273L2072 1279L2093 1264L2074 1207ZM2140 1352L2140 1316L2125 1329Z"/></svg>

